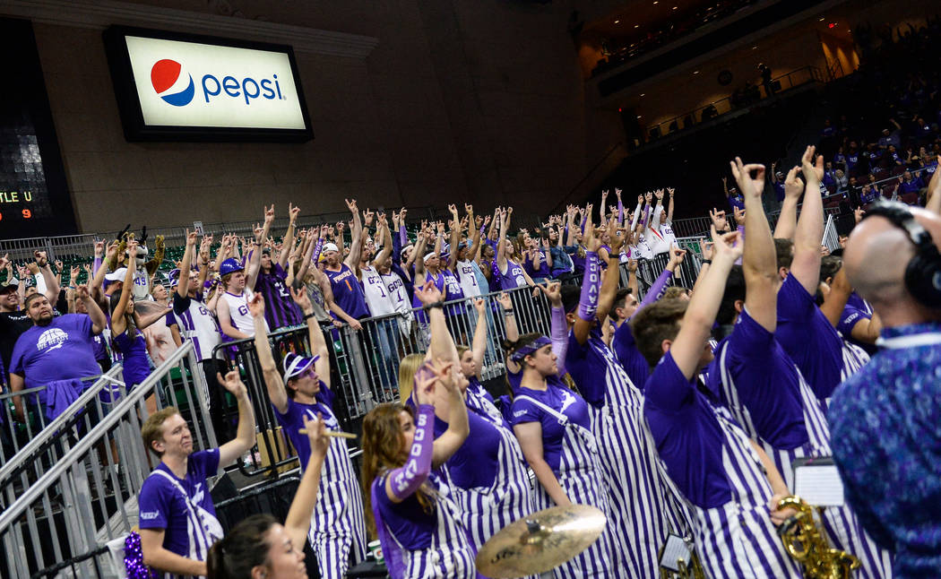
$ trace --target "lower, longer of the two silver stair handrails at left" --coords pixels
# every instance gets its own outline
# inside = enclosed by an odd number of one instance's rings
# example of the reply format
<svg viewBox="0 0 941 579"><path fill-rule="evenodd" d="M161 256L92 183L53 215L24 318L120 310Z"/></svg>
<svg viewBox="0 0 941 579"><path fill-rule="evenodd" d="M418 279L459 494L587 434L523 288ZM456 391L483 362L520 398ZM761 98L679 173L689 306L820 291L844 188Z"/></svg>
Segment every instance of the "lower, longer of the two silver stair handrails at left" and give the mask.
<svg viewBox="0 0 941 579"><path fill-rule="evenodd" d="M127 413L128 410L134 410L138 402L143 400L148 394L151 394L153 388L164 378L164 375L167 374L172 367L179 364L183 360L183 357L189 355L192 351L192 342L185 342L183 346L178 347L170 354L166 362L160 364L150 376L136 386L133 392L124 396L118 405L108 412L101 422L88 431L88 434L79 439L52 468L43 473L28 489L24 490L23 494L21 494L12 505L5 508L3 513L0 513L0 533L19 519L33 501L40 498L40 495L56 483L59 477L66 474L66 472L74 466L73 463L77 459L83 458L91 447L97 444L99 439L107 434L110 428L117 425L120 420L123 419L124 414Z"/></svg>

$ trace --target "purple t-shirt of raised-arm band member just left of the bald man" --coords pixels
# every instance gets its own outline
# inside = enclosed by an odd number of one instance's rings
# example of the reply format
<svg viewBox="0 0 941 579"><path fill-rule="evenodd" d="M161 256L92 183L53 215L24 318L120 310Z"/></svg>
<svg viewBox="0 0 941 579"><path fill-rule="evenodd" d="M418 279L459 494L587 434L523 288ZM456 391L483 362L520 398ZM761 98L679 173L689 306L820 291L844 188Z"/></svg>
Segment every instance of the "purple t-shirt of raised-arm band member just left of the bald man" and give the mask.
<svg viewBox="0 0 941 579"><path fill-rule="evenodd" d="M843 340L814 297L789 275L777 292L774 337L821 400L833 394L843 367Z"/></svg>

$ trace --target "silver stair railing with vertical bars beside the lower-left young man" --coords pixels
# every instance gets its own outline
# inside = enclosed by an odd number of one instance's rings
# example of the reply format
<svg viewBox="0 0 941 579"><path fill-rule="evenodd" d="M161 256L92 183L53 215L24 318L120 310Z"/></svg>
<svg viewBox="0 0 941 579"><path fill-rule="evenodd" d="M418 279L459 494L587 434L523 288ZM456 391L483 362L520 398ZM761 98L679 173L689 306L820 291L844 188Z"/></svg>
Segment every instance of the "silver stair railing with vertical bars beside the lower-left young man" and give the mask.
<svg viewBox="0 0 941 579"><path fill-rule="evenodd" d="M49 576L61 562L68 562L68 572L76 577L113 576L101 572L107 559L97 554L137 521L136 495L154 462L140 439L147 398L156 394L157 408L176 403L190 425L195 450L216 446L205 380L190 368L198 365L193 346L184 344L131 393L121 393L110 411L70 442L32 484L22 491L5 490L0 576Z"/></svg>

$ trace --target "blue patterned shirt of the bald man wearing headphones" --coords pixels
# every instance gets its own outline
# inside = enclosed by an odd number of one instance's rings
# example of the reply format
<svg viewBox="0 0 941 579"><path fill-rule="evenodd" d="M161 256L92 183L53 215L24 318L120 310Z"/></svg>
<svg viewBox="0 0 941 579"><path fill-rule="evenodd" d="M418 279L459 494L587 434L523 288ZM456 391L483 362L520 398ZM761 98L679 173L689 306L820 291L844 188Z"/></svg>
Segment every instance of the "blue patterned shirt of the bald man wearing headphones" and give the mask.
<svg viewBox="0 0 941 579"><path fill-rule="evenodd" d="M884 349L834 392L834 459L859 520L894 553L895 577L937 577L941 324L886 328L882 337Z"/></svg>

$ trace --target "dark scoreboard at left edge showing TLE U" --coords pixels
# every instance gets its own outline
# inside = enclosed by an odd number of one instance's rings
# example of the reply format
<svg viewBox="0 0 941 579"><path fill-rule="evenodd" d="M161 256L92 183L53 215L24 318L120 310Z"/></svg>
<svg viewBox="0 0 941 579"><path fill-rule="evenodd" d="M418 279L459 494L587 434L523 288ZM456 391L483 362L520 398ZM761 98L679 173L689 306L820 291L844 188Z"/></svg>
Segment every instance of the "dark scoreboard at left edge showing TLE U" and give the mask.
<svg viewBox="0 0 941 579"><path fill-rule="evenodd" d="M18 47L5 61L16 89L0 94L0 239L75 233L32 25L3 18L0 33Z"/></svg>

